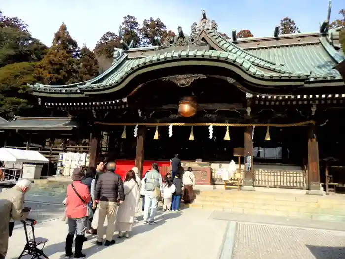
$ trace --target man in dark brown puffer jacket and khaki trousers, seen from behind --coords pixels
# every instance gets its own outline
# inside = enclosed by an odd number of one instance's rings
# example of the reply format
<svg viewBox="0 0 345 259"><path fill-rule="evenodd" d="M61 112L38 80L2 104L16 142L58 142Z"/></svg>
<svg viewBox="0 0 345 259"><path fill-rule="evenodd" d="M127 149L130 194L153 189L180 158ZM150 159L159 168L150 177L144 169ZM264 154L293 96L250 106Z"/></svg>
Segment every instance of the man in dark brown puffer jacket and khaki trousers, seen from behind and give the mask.
<svg viewBox="0 0 345 259"><path fill-rule="evenodd" d="M112 239L115 229L115 218L118 204L125 200L125 193L123 191L123 182L121 177L115 173L115 162L108 162L106 165L106 172L101 174L98 178L95 191L95 200L99 201L99 213L97 224L97 242L98 246L102 245L104 237L104 221L105 217L108 220L106 229L105 246L115 244ZM119 197L118 197L119 195Z"/></svg>

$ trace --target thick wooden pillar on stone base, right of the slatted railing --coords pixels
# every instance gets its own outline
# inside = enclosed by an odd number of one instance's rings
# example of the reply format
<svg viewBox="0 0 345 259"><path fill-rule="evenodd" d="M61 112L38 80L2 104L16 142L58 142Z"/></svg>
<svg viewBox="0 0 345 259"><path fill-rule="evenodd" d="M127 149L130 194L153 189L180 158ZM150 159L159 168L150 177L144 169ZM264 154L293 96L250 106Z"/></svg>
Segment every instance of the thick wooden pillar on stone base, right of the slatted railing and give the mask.
<svg viewBox="0 0 345 259"><path fill-rule="evenodd" d="M308 129L308 182L308 194L324 194L320 185L319 145L314 125Z"/></svg>

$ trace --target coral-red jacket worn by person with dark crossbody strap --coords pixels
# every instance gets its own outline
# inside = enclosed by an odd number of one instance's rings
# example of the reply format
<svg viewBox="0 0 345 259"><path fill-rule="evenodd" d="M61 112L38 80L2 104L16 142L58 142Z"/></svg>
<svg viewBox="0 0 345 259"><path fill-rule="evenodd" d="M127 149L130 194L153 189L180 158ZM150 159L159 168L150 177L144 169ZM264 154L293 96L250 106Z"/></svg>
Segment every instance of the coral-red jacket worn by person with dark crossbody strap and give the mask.
<svg viewBox="0 0 345 259"><path fill-rule="evenodd" d="M91 202L91 195L89 188L80 181L73 181L75 190L83 198L84 202L78 197L72 188L72 185L67 186L66 192L66 217L72 219L79 219L87 217L86 204Z"/></svg>

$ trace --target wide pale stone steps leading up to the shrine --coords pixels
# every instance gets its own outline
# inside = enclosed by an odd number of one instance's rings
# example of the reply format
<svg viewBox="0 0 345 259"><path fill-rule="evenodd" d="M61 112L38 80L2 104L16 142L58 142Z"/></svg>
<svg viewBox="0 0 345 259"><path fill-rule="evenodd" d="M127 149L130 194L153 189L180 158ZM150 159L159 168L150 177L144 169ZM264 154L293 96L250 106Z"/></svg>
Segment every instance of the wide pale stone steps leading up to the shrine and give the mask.
<svg viewBox="0 0 345 259"><path fill-rule="evenodd" d="M191 208L345 222L345 195L313 196L237 190L196 190Z"/></svg>

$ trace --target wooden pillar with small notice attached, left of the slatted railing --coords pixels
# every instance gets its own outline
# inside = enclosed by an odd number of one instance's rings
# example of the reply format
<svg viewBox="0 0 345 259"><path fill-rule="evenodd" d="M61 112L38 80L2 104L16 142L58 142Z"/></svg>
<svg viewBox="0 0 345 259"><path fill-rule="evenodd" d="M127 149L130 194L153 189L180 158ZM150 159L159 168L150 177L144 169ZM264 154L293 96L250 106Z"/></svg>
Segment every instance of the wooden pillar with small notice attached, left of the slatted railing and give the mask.
<svg viewBox="0 0 345 259"><path fill-rule="evenodd" d="M244 182L242 190L253 188L253 127L246 127L244 132Z"/></svg>

